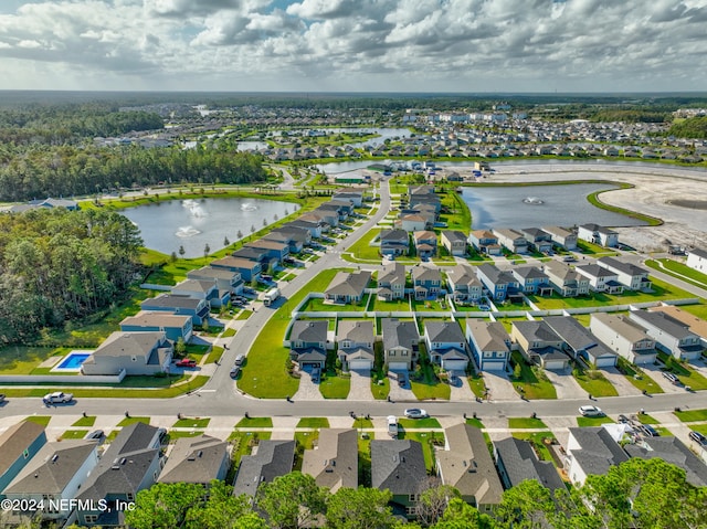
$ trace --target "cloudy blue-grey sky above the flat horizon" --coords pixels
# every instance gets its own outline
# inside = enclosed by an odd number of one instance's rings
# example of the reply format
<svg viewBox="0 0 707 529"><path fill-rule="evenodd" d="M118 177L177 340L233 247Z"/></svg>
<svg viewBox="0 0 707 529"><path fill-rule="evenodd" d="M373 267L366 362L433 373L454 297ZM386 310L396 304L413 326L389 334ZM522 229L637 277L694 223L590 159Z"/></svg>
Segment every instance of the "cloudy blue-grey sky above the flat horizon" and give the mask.
<svg viewBox="0 0 707 529"><path fill-rule="evenodd" d="M0 0L0 89L707 91L707 0Z"/></svg>

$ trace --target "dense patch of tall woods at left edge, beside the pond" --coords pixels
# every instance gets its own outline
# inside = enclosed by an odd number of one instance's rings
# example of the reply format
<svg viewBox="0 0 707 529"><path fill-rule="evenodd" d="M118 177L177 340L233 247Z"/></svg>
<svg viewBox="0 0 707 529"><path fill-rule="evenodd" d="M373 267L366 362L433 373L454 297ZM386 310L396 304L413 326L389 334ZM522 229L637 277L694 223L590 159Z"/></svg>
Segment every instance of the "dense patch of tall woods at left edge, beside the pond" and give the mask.
<svg viewBox="0 0 707 529"><path fill-rule="evenodd" d="M143 240L125 216L62 208L0 215L0 342L85 318L119 298Z"/></svg>

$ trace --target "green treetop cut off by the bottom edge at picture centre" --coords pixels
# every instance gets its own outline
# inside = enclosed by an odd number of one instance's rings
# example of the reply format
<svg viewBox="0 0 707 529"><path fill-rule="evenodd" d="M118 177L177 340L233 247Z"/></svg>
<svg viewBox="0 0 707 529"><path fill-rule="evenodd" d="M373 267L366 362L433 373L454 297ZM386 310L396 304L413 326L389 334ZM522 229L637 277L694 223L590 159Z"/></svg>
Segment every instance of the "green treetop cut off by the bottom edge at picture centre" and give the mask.
<svg viewBox="0 0 707 529"><path fill-rule="evenodd" d="M327 501L327 525L333 529L394 527L395 517L388 506L391 498L390 490L340 488Z"/></svg>

